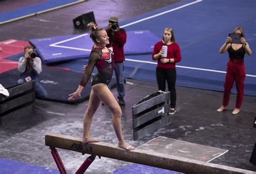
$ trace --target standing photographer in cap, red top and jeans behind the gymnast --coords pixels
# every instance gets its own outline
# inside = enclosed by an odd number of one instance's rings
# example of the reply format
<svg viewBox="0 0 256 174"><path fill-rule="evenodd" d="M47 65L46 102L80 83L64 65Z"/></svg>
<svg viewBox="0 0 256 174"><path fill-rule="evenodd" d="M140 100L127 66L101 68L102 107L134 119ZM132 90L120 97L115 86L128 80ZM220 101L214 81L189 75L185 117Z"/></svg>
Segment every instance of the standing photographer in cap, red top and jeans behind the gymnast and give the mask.
<svg viewBox="0 0 256 174"><path fill-rule="evenodd" d="M107 36L109 37L109 45L106 45L113 51L114 55L114 72L117 78L117 92L118 92L118 103L120 106L125 105L124 95L124 44L126 43L126 31L120 29L118 25L118 17L111 16L109 19L109 25L107 25Z"/></svg>

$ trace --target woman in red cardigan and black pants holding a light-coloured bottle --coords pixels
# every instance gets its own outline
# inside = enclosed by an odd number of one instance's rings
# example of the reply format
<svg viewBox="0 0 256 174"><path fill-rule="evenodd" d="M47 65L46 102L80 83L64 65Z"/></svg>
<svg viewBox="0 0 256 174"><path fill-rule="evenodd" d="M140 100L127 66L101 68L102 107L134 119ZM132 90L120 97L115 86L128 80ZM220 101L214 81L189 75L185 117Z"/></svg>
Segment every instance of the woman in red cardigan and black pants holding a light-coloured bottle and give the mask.
<svg viewBox="0 0 256 174"><path fill-rule="evenodd" d="M163 45L167 45L167 56L163 57ZM163 39L154 45L153 60L157 60L157 84L158 89L165 91L167 81L168 90L171 93L171 109L169 114L176 112L176 62L181 60L179 45L175 42L173 30L170 27L164 29Z"/></svg>

